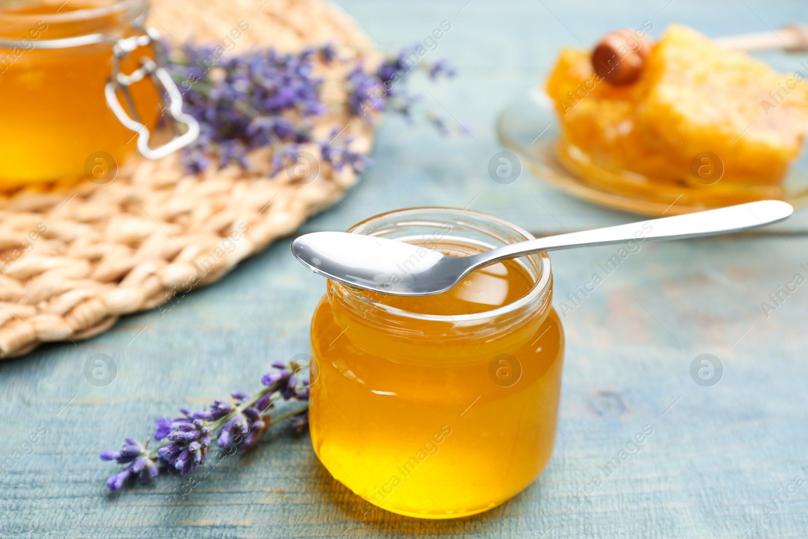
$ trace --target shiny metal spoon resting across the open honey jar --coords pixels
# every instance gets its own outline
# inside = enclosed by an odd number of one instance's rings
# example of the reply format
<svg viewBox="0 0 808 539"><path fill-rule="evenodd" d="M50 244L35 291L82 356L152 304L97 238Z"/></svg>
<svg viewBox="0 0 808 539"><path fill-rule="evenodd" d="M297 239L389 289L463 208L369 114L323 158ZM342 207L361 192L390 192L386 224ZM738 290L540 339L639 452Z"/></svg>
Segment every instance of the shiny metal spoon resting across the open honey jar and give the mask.
<svg viewBox="0 0 808 539"><path fill-rule="evenodd" d="M610 245L638 238L659 242L726 234L770 225L791 213L791 205L782 200L760 200L511 243L465 257L363 234L314 232L292 242L292 254L313 272L351 286L398 296L431 296L446 292L481 267L537 251Z"/></svg>

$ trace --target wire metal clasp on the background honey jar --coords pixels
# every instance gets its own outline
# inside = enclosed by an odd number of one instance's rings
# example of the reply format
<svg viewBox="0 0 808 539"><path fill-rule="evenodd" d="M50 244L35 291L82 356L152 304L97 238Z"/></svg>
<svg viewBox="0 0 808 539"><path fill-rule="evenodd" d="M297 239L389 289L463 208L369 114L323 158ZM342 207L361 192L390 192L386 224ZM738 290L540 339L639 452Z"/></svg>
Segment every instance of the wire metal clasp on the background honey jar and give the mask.
<svg viewBox="0 0 808 539"><path fill-rule="evenodd" d="M104 95L107 98L107 105L109 105L112 112L120 120L121 124L132 131L137 132L137 149L141 152L143 157L147 159L164 158L166 155L172 154L178 149L184 148L196 140L200 134L200 124L196 118L183 112L183 96L179 92L179 88L171 79L171 75L162 67L162 55L158 51L159 33L154 28L143 28L145 34L140 36L131 36L120 39L112 48L112 78L107 82L104 89ZM130 74L123 74L120 72L120 61L127 57L128 54L133 53L137 48L152 47L154 51L154 60L149 57L141 59L141 67L136 69ZM154 86L158 89L160 103L162 110L167 111L171 118L175 121L172 124L176 136L166 144L151 148L149 146L149 128L141 120L140 114L137 112L132 93L129 91L129 86L141 81L143 78L149 77L154 82ZM124 95L124 99L128 105L132 116L124 110L118 100L117 92L120 91ZM166 103L166 95L169 102ZM184 131L184 133L183 133Z"/></svg>

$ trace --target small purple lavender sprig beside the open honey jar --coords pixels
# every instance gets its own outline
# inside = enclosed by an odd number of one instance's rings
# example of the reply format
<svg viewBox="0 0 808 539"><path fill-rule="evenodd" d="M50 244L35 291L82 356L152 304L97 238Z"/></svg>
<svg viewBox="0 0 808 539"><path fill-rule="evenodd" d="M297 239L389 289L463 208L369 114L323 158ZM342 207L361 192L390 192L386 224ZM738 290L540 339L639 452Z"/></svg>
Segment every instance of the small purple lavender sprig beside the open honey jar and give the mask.
<svg viewBox="0 0 808 539"><path fill-rule="evenodd" d="M149 441L141 444L128 437L120 451L101 453L103 461L114 460L127 465L123 471L107 479L109 489L117 491L124 482L138 477L142 483L149 482L163 468L174 468L180 474L188 474L207 460L214 437L219 448L238 446L243 454L255 447L259 437L272 424L284 419L291 419L292 425L301 431L308 423L309 370L294 361L274 363L272 369L261 379L264 388L253 395L235 391L231 394L234 402L216 399L209 410L191 412L183 408L183 417L156 420L154 439L166 440L156 448L149 449ZM273 418L267 411L279 398L306 401L306 405Z"/></svg>

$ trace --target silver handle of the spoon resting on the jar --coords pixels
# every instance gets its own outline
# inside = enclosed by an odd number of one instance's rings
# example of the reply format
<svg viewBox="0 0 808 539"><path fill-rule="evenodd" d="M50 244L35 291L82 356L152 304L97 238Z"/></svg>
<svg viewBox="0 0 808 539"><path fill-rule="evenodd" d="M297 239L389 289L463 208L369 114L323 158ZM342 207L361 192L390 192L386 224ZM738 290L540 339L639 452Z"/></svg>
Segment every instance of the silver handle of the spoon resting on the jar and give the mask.
<svg viewBox="0 0 808 539"><path fill-rule="evenodd" d="M474 255L476 263L492 263L529 255L536 251L558 251L573 247L611 245L629 240L662 242L667 239L698 238L758 228L782 221L793 213L782 200L759 200L705 212L638 221L627 225L558 234L527 242L511 243Z"/></svg>

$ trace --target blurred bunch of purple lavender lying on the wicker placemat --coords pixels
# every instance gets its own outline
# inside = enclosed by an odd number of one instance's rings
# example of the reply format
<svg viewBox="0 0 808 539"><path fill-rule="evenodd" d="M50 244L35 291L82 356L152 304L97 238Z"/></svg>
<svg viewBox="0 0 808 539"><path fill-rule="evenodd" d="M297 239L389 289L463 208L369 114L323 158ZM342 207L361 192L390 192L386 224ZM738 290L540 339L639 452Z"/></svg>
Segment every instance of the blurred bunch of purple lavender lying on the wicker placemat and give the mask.
<svg viewBox="0 0 808 539"><path fill-rule="evenodd" d="M350 166L356 173L370 164L369 158L350 149L349 137L337 137L344 128L335 125L327 140L314 137L312 119L327 112L322 103L322 79L314 76L318 62L354 62L347 72L349 116L372 120L372 112L394 111L406 117L419 99L402 86L413 69L427 71L429 78L448 77L454 70L445 61L427 64L414 55L415 48L402 49L374 72L366 72L355 58L339 58L330 44L306 48L301 53L278 53L258 48L248 53L218 59L208 46L187 44L170 51L168 69L183 93L185 110L199 120L200 137L183 149L187 171L236 162L248 168L250 149L271 146L270 175L290 163L299 145L313 143L322 160L339 171ZM438 125L434 120L432 124Z"/></svg>

